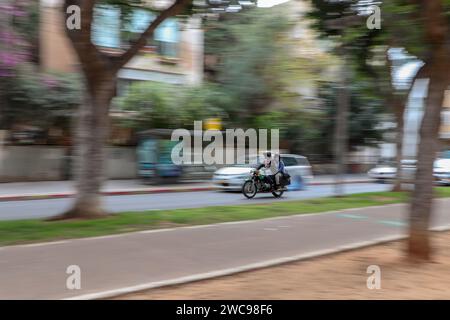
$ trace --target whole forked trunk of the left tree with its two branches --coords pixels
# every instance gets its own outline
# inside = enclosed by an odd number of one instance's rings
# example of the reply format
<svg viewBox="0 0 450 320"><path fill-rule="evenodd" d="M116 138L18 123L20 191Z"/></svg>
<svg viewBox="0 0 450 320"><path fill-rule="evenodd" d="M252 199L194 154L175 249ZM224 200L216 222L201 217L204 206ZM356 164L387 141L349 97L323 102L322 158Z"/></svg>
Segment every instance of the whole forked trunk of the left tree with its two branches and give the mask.
<svg viewBox="0 0 450 320"><path fill-rule="evenodd" d="M101 186L104 181L104 144L108 136L109 105L115 95L117 73L142 49L155 29L167 18L179 14L189 0L175 0L162 10L139 38L121 55L110 55L91 41L94 7L97 1L65 0L62 12L79 6L83 13L81 28L66 28L67 36L80 62L86 82L86 97L78 114L75 141L75 177L77 196L71 210L55 219L95 218L106 214L101 205ZM55 220L52 219L52 220Z"/></svg>

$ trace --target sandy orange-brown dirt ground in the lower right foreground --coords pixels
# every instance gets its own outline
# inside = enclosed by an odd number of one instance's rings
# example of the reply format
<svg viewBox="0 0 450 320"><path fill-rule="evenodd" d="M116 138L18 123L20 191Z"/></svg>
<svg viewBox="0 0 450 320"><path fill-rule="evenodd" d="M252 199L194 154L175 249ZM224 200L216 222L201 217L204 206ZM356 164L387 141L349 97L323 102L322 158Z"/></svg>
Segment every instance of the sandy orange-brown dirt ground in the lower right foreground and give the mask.
<svg viewBox="0 0 450 320"><path fill-rule="evenodd" d="M450 232L433 234L431 263L407 263L405 243L391 242L119 299L450 299ZM368 289L378 265L381 288Z"/></svg>

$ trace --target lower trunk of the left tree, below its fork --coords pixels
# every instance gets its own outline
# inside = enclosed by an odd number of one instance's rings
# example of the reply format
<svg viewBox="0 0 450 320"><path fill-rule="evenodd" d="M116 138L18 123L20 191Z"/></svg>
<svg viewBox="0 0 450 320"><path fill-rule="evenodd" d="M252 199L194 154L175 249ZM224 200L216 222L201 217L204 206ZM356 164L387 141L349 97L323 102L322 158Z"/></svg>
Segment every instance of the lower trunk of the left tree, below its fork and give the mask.
<svg viewBox="0 0 450 320"><path fill-rule="evenodd" d="M86 93L79 107L75 132L75 180L77 195L68 212L57 219L97 218L106 215L101 201L101 187L105 180L105 143L109 133L109 105L114 86Z"/></svg>

